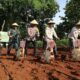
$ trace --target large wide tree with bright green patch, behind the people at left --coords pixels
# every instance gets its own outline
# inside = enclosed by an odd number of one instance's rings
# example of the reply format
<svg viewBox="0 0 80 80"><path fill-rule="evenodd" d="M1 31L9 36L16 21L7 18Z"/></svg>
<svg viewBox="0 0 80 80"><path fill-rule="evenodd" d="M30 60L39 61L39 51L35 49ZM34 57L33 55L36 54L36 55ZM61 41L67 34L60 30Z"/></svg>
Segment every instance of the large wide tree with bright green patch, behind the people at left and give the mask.
<svg viewBox="0 0 80 80"><path fill-rule="evenodd" d="M7 30L15 21L20 24L29 23L34 18L38 21L47 17L52 18L58 8L55 0L0 0L0 26L4 19L4 30Z"/></svg>

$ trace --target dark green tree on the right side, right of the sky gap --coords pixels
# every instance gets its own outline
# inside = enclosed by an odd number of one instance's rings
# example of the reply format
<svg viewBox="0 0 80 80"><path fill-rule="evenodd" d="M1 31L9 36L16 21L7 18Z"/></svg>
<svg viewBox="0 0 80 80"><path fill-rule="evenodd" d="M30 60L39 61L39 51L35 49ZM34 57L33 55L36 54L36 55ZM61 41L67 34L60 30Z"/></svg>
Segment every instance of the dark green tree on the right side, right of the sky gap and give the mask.
<svg viewBox="0 0 80 80"><path fill-rule="evenodd" d="M65 7L65 17L61 19L63 22L58 25L58 29L62 36L65 32L69 33L80 20L80 0L69 0Z"/></svg>

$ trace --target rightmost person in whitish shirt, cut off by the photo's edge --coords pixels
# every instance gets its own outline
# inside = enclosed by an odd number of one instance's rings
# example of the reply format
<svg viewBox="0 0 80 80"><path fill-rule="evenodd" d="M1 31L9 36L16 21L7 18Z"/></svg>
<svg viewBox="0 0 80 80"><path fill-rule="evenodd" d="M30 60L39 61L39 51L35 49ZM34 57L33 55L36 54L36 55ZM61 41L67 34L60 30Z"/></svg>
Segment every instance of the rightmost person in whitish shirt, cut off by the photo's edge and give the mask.
<svg viewBox="0 0 80 80"><path fill-rule="evenodd" d="M72 28L71 32L68 35L71 50L76 47L75 42L79 38L79 36L80 36L80 21L75 25L75 27Z"/></svg>

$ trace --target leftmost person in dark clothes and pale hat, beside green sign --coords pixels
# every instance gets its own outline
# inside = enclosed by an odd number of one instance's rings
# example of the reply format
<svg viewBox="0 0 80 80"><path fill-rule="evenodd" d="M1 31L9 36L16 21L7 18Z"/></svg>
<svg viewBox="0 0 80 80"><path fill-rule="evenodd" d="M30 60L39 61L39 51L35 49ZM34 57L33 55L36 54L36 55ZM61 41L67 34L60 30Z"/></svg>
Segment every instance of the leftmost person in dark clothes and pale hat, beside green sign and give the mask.
<svg viewBox="0 0 80 80"><path fill-rule="evenodd" d="M9 44L8 44L8 51L7 54L10 54L10 50L11 48L15 48L16 49L16 55L19 54L19 44L20 44L20 40L19 40L19 35L20 32L18 31L17 27L19 25L17 23L13 23L11 29L8 31L8 35L9 35Z"/></svg>

